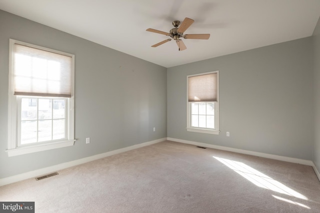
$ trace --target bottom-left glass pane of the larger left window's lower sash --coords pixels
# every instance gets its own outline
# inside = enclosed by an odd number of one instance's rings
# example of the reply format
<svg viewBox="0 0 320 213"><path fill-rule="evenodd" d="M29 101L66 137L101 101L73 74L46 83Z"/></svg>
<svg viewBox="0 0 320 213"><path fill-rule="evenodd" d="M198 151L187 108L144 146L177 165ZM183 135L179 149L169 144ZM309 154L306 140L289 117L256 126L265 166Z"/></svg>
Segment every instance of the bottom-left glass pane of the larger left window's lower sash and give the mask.
<svg viewBox="0 0 320 213"><path fill-rule="evenodd" d="M36 142L36 121L21 121L21 144Z"/></svg>

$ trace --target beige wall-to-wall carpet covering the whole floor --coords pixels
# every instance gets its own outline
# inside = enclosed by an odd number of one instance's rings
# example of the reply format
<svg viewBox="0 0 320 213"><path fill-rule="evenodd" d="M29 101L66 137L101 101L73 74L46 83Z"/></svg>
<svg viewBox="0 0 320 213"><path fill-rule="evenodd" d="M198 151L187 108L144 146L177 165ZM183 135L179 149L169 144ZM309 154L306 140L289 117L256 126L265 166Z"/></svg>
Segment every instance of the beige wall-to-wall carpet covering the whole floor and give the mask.
<svg viewBox="0 0 320 213"><path fill-rule="evenodd" d="M36 213L319 213L309 166L165 141L0 187Z"/></svg>

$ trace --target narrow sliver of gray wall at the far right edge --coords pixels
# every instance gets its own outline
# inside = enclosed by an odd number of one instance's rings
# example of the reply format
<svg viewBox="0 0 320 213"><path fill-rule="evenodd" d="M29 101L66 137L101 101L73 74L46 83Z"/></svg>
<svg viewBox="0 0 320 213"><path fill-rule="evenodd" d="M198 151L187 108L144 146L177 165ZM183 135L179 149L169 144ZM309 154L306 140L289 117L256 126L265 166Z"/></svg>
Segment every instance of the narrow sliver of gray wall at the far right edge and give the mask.
<svg viewBox="0 0 320 213"><path fill-rule="evenodd" d="M313 162L320 171L320 18L313 32L314 50L314 149Z"/></svg>

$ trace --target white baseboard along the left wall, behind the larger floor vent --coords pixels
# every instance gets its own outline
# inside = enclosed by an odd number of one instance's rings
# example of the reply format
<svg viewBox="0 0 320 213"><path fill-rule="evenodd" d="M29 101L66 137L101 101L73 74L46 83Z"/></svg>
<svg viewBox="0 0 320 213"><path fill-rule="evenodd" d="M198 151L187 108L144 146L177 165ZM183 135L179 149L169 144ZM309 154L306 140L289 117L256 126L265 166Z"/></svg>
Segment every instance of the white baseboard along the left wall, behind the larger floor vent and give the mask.
<svg viewBox="0 0 320 213"><path fill-rule="evenodd" d="M125 148L122 148L122 149L117 149L117 150L113 150L113 151L110 151L110 152L106 152L106 153L102 153L102 154L93 155L93 156L90 156L90 157L78 159L78 160L75 160L75 161L70 161L70 162L66 162L66 163L62 163L62 164L58 164L58 165L54 165L54 166L45 167L45 168L41 168L41 169L38 169L38 170L22 173L22 174L19 174L19 175L14 175L14 176L10 176L10 177L7 177L7 178L2 178L2 179L0 179L0 186L4 186L4 185L7 185L7 184L12 184L12 183L15 183L15 182L18 182L18 181L22 181L22 180L26 180L26 179L29 179L29 178L34 178L36 176L40 176L40 175L56 172L58 170L62 170L62 169L66 169L66 168L69 168L69 167L77 166L77 165L80 165L80 164L84 164L84 163L87 163L87 162L90 162L90 161L98 160L98 159L105 158L105 157L108 157L108 156L111 156L111 155L115 155L115 154L119 154L119 153L122 153L122 152L127 152L127 151L130 151L130 150L138 149L138 148L145 147L145 146L148 146L148 145L151 145L151 144L156 144L156 143L159 143L159 142L162 142L162 141L165 141L165 140L166 140L166 138L161 138L161 139L157 139L157 140L154 140L154 141L148 141L148 142L144 142L144 143L141 143L141 144L136 144L136 145L133 145L133 146L125 147Z"/></svg>

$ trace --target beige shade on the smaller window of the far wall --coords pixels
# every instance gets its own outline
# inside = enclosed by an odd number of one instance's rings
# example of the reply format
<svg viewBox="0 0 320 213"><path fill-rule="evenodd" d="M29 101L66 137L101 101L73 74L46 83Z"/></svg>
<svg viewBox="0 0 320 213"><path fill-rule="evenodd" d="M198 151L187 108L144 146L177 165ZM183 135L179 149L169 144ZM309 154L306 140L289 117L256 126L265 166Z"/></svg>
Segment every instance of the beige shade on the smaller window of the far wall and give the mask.
<svg viewBox="0 0 320 213"><path fill-rule="evenodd" d="M217 74L188 77L188 102L216 101L217 100Z"/></svg>

